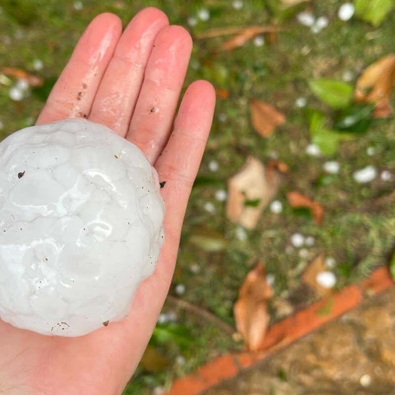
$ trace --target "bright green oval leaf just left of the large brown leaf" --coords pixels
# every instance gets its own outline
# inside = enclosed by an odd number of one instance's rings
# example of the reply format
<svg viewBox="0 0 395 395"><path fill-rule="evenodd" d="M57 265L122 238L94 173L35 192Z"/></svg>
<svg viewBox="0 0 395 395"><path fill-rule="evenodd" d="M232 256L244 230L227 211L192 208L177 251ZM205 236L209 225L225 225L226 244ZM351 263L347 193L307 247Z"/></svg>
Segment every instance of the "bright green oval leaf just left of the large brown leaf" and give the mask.
<svg viewBox="0 0 395 395"><path fill-rule="evenodd" d="M353 94L353 87L350 84L333 79L311 79L309 86L319 99L333 108L346 107Z"/></svg>

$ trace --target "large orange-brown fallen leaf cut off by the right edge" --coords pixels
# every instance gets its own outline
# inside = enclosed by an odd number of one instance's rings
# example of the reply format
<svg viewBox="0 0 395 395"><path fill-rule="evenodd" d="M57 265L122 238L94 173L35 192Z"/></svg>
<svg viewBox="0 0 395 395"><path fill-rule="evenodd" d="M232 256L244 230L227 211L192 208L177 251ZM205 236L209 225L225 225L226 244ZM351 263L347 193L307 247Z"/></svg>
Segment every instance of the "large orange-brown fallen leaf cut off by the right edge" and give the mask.
<svg viewBox="0 0 395 395"><path fill-rule="evenodd" d="M392 113L390 98L395 83L395 54L385 56L368 66L356 81L355 98L376 105L376 118Z"/></svg>

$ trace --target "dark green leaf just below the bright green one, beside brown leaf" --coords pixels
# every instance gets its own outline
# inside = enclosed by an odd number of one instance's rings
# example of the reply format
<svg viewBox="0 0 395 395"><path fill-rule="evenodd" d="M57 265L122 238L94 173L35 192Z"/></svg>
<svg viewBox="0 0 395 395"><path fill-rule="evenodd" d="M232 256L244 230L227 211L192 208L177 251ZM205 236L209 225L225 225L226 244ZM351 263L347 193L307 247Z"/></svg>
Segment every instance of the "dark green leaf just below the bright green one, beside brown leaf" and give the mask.
<svg viewBox="0 0 395 395"><path fill-rule="evenodd" d="M352 104L338 114L333 127L340 131L364 133L372 124L373 109L371 104Z"/></svg>

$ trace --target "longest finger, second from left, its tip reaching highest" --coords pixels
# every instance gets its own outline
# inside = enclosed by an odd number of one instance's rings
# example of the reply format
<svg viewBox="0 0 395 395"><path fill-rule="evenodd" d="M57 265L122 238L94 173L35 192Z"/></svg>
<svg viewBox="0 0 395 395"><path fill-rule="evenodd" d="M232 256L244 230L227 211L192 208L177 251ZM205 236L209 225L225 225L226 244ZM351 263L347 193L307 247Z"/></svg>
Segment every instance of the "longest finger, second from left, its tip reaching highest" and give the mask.
<svg viewBox="0 0 395 395"><path fill-rule="evenodd" d="M104 73L90 120L125 136L154 40L166 25L166 15L154 7L143 9L130 21Z"/></svg>

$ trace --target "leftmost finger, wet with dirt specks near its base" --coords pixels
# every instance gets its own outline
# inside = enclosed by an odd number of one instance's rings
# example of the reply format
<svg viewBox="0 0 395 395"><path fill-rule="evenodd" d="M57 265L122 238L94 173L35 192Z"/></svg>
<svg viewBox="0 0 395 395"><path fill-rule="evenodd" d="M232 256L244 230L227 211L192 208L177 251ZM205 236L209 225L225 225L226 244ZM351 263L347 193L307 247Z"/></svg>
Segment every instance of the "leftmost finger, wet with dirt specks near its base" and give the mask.
<svg viewBox="0 0 395 395"><path fill-rule="evenodd" d="M121 21L114 14L100 14L93 19L52 88L37 123L87 118L121 32Z"/></svg>

